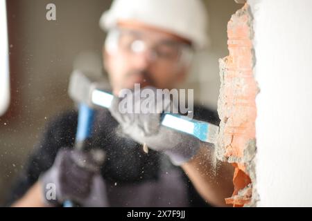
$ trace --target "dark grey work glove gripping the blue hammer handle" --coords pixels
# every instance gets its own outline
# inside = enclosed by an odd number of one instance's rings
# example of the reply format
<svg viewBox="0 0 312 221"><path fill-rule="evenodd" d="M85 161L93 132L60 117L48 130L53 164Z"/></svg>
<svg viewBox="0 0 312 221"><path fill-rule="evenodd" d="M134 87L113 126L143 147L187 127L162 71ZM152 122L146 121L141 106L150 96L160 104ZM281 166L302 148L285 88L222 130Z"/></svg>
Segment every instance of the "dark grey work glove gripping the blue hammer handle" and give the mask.
<svg viewBox="0 0 312 221"><path fill-rule="evenodd" d="M105 182L99 167L103 160L104 153L99 150L60 149L51 169L40 176L44 202L54 206L71 200L80 206L107 206ZM54 199L51 184L55 186Z"/></svg>

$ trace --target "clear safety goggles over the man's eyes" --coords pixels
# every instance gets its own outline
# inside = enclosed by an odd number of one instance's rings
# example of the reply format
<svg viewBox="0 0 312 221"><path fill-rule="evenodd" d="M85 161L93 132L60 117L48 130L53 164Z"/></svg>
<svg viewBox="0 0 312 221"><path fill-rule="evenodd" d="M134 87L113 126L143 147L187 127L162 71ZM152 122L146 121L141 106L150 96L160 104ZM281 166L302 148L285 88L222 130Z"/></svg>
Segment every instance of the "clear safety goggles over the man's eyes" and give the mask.
<svg viewBox="0 0 312 221"><path fill-rule="evenodd" d="M151 43L144 33L115 28L108 32L105 40L108 53L123 52L125 55L144 55L157 64L169 67L188 67L193 59L191 45L172 39Z"/></svg>

